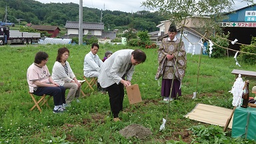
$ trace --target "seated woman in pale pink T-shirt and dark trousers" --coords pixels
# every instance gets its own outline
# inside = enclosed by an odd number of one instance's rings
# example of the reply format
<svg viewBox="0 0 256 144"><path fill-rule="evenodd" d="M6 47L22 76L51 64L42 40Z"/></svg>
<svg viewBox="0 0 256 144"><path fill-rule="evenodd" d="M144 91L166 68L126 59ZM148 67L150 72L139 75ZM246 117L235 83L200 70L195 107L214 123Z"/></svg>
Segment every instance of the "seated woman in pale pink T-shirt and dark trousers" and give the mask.
<svg viewBox="0 0 256 144"><path fill-rule="evenodd" d="M54 101L53 113L61 113L65 110L65 87L55 83L47 68L48 54L39 51L35 55L35 61L27 69L27 83L29 91L35 95L52 95Z"/></svg>

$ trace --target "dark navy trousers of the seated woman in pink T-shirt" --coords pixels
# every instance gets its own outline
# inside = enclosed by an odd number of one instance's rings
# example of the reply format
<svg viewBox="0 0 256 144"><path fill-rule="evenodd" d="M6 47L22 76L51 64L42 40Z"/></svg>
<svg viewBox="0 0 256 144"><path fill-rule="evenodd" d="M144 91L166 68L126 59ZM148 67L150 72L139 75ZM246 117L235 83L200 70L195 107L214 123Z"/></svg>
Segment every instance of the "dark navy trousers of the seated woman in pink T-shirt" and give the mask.
<svg viewBox="0 0 256 144"><path fill-rule="evenodd" d="M65 87L59 86L59 87L37 87L37 90L34 90L34 94L38 96L42 95L52 95L54 105L62 105L63 103L66 103L65 100Z"/></svg>

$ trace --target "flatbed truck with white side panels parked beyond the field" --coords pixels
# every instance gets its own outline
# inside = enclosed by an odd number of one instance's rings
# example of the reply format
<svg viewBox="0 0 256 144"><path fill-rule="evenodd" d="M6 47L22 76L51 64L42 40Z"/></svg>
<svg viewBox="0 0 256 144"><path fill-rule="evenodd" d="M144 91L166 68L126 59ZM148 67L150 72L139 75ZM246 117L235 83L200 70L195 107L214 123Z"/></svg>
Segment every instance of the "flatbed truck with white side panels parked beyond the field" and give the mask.
<svg viewBox="0 0 256 144"><path fill-rule="evenodd" d="M38 43L40 33L20 32L9 30L9 27L0 27L0 45Z"/></svg>

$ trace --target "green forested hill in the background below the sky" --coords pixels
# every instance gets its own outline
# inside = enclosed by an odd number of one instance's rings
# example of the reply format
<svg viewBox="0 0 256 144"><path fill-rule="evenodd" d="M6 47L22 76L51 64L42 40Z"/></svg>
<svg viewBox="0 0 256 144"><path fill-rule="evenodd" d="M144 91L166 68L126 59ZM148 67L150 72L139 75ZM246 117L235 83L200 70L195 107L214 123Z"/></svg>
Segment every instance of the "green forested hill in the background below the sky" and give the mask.
<svg viewBox="0 0 256 144"><path fill-rule="evenodd" d="M5 17L17 25L20 21L34 25L57 25L63 27L66 21L79 21L79 5L76 3L40 3L34 0L0 0L0 19ZM156 25L168 19L167 15L155 11L123 11L101 10L83 7L83 21L102 22L105 30L136 29L138 31L157 31Z"/></svg>

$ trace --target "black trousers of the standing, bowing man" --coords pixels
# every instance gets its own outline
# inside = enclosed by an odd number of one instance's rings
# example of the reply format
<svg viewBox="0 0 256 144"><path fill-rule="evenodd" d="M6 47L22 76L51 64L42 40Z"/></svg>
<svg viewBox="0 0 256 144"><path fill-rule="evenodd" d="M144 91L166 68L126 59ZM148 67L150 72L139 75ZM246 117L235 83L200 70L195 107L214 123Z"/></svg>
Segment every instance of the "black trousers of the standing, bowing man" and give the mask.
<svg viewBox="0 0 256 144"><path fill-rule="evenodd" d="M111 112L113 113L113 117L118 117L120 111L123 111L123 97L125 95L123 89L123 83L114 83L113 85L107 87L107 91L109 93L109 103L111 107Z"/></svg>

